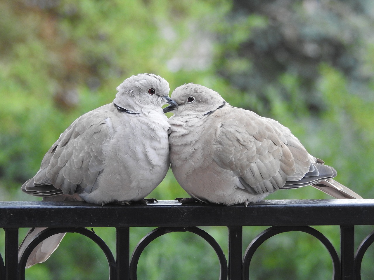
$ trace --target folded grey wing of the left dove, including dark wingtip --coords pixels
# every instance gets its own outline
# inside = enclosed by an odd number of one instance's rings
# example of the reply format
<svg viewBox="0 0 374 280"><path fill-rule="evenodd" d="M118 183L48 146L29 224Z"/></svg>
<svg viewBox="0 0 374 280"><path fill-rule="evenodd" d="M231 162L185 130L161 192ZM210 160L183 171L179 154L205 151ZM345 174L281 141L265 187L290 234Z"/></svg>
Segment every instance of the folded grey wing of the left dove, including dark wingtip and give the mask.
<svg viewBox="0 0 374 280"><path fill-rule="evenodd" d="M102 108L102 107L101 107ZM37 196L73 195L91 190L102 170L102 143L111 137L108 111L98 108L80 116L61 134L22 191Z"/></svg>

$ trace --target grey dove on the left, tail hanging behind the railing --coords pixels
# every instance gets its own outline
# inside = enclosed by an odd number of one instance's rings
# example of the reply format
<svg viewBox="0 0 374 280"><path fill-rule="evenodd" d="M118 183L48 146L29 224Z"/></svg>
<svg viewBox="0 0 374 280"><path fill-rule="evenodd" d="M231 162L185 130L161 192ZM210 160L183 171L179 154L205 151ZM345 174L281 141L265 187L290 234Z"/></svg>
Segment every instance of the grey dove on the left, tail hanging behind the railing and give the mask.
<svg viewBox="0 0 374 280"><path fill-rule="evenodd" d="M43 200L84 200L89 203L141 201L169 169L167 117L161 106L174 104L168 82L138 74L117 87L113 103L76 119L50 147L35 177L22 191ZM19 248L44 228L32 228ZM45 261L65 233L40 243L27 267Z"/></svg>

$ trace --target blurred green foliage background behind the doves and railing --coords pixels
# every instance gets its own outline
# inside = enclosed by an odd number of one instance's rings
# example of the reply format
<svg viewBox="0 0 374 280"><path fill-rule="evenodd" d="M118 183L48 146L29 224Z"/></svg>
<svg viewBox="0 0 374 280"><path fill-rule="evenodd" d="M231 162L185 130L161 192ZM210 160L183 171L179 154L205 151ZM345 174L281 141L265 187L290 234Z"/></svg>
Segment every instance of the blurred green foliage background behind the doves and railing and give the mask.
<svg viewBox="0 0 374 280"><path fill-rule="evenodd" d="M337 169L338 181L372 198L373 26L370 0L0 0L0 199L36 200L20 187L59 134L78 116L112 102L125 78L144 72L161 75L172 90L205 85L233 106L278 120ZM184 196L169 171L149 197ZM328 198L312 187L267 197ZM339 251L339 228L316 228ZM203 229L227 252L227 228ZM244 228L243 250L263 229ZM115 252L115 230L94 230ZM131 228L132 248L150 230ZM371 230L356 227L356 246ZM373 261L370 248L362 279L374 278ZM331 279L331 268L317 240L292 232L261 245L250 270L252 279L321 280ZM26 278L107 275L97 246L68 234ZM188 233L152 242L138 267L138 279L218 275L213 250Z"/></svg>

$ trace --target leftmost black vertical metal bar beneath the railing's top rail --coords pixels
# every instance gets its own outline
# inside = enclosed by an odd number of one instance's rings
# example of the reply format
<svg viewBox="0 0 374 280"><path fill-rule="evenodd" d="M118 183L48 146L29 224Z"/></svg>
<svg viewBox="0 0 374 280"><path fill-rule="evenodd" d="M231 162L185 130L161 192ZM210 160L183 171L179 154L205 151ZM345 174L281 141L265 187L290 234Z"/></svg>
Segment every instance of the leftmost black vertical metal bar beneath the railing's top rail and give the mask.
<svg viewBox="0 0 374 280"><path fill-rule="evenodd" d="M18 279L18 228L5 230L5 279Z"/></svg>

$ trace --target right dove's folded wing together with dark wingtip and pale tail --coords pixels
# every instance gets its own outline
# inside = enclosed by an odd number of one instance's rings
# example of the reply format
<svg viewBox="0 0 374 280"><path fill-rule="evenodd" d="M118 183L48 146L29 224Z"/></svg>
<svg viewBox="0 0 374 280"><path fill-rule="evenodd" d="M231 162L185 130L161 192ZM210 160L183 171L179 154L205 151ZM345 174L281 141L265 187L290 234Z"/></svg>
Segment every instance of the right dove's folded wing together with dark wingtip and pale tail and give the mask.
<svg viewBox="0 0 374 280"><path fill-rule="evenodd" d="M362 198L332 180L335 169L309 155L279 122L231 106L220 112L214 160L239 178L238 187L257 195L312 185L336 198Z"/></svg>

